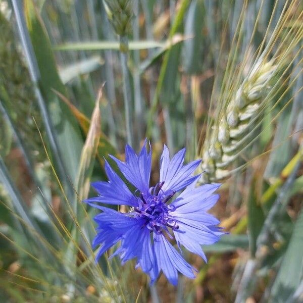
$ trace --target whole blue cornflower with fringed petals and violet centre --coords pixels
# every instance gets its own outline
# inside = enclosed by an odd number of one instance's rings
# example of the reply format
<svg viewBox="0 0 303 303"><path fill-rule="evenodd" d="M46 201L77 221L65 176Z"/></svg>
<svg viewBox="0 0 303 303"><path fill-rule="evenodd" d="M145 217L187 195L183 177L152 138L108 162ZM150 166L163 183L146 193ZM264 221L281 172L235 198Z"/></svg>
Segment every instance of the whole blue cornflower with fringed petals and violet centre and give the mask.
<svg viewBox="0 0 303 303"><path fill-rule="evenodd" d="M213 192L220 184L196 187L200 175L193 176L193 172L200 160L183 165L184 156L185 148L170 160L169 150L164 145L160 182L153 187L149 187L151 150L147 153L146 140L139 155L129 145L126 146L125 163L111 156L125 178L135 186L134 193L108 162L105 163L109 181L92 183L98 196L85 200L103 211L94 217L98 228L92 245L100 245L96 261L121 241L112 257L120 255L122 264L136 258L136 268L141 267L150 276L151 283L156 281L161 270L173 285L177 284L178 271L194 278L196 270L183 259L180 246L207 261L200 245L213 244L223 234L217 226L219 220L206 213L219 199L219 195ZM127 205L130 211L120 213L93 202ZM175 239L181 254L169 239Z"/></svg>

